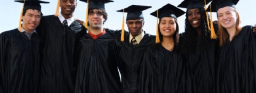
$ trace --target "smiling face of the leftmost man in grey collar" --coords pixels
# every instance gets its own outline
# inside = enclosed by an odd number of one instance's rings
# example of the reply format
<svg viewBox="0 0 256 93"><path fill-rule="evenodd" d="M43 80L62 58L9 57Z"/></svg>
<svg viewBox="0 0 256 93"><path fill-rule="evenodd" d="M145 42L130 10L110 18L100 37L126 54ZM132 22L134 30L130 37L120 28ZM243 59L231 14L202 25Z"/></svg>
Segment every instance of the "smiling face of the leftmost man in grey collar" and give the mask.
<svg viewBox="0 0 256 93"><path fill-rule="evenodd" d="M22 16L22 28L31 33L40 24L41 12L38 10L28 9Z"/></svg>

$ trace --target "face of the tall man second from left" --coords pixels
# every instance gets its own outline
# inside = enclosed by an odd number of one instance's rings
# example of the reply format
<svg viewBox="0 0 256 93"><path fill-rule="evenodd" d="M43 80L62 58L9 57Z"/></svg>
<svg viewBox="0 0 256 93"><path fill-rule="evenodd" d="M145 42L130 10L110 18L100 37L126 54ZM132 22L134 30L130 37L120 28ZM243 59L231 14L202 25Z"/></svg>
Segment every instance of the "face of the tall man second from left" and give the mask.
<svg viewBox="0 0 256 93"><path fill-rule="evenodd" d="M61 0L61 14L66 16L72 15L75 11L76 5L76 0Z"/></svg>

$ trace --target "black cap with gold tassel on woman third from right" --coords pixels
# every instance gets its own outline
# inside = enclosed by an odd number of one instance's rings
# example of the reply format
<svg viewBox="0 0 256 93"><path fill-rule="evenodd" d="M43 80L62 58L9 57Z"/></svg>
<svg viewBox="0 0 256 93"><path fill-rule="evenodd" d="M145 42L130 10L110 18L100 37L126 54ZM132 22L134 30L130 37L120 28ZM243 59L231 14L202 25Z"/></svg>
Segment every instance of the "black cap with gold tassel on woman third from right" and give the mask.
<svg viewBox="0 0 256 93"><path fill-rule="evenodd" d="M160 43L159 33L158 33L158 18L162 19L163 17L172 17L177 20L178 17L185 14L185 11L173 6L171 4L166 4L162 8L154 11L150 15L153 15L157 18L156 21L156 41L155 43Z"/></svg>

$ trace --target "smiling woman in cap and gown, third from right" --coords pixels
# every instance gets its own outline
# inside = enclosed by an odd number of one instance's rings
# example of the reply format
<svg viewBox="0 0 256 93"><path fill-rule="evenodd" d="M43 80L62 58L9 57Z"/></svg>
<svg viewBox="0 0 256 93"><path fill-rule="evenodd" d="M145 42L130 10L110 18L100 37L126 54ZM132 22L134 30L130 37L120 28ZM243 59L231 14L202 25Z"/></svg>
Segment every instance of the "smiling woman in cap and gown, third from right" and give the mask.
<svg viewBox="0 0 256 93"><path fill-rule="evenodd" d="M184 93L184 63L178 53L177 18L185 14L167 4L151 15L159 18L156 38L161 43L147 48L142 63L140 93Z"/></svg>

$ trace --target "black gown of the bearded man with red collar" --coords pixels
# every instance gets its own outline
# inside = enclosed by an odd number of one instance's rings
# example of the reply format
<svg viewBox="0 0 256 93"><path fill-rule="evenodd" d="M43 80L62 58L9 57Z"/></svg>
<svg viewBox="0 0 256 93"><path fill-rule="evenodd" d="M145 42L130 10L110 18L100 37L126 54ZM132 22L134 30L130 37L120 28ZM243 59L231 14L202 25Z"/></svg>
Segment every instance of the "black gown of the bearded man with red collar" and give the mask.
<svg viewBox="0 0 256 93"><path fill-rule="evenodd" d="M120 93L118 48L114 35L106 33L93 39L89 34L79 40L79 63L75 93Z"/></svg>

